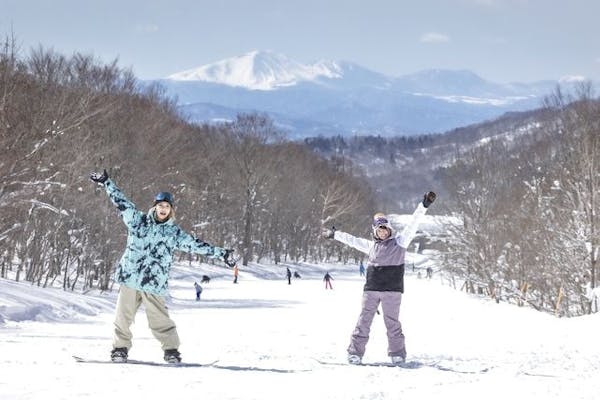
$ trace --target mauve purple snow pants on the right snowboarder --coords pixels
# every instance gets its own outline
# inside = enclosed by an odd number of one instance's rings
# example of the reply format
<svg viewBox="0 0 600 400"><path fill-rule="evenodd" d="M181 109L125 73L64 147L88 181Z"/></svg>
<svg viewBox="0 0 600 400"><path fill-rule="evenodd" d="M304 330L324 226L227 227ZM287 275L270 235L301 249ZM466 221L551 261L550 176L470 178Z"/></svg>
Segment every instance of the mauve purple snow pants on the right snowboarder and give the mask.
<svg viewBox="0 0 600 400"><path fill-rule="evenodd" d="M377 312L377 307L381 303L383 321L388 335L388 355L390 357L400 356L406 358L404 334L402 333L402 325L399 320L401 301L402 293L400 292L364 291L362 310L358 317L356 328L352 332L348 354L356 354L360 357L365 354L371 323L373 322L375 312Z"/></svg>

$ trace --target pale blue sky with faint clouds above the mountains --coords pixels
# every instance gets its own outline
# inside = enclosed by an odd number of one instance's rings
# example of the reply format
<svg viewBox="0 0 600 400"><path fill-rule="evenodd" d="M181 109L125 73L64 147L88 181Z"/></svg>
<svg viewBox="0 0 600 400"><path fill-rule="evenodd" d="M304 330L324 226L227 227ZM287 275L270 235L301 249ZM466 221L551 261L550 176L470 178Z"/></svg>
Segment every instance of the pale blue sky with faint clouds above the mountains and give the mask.
<svg viewBox="0 0 600 400"><path fill-rule="evenodd" d="M251 50L390 76L600 80L597 0L0 0L0 34L161 78Z"/></svg>

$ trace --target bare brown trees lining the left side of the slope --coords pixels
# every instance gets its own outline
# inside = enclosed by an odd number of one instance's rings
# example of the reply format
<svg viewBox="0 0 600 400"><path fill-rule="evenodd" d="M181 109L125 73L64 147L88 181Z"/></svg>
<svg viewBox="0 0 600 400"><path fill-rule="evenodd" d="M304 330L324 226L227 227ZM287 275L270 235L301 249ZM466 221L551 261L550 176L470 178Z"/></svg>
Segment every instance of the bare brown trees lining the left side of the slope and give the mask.
<svg viewBox="0 0 600 400"><path fill-rule="evenodd" d="M177 222L244 265L352 254L320 231L365 225L364 177L282 140L268 117L193 125L116 61L41 47L23 56L12 36L1 46L0 277L111 288L126 231L88 179L103 168L142 211L172 192Z"/></svg>

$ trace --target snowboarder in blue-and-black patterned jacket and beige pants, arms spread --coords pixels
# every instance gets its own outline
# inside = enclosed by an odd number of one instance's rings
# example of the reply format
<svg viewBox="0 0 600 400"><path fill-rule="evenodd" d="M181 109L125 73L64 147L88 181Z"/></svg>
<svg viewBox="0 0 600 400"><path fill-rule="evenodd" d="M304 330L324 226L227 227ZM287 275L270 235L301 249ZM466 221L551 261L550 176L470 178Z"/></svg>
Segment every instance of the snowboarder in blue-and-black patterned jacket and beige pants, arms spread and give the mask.
<svg viewBox="0 0 600 400"><path fill-rule="evenodd" d="M92 173L90 179L104 186L128 231L127 247L115 271L115 281L120 288L111 360L127 362L133 337L129 328L138 308L144 304L148 325L161 343L164 360L168 363L181 362L177 328L169 317L164 299L173 252L179 250L218 258L232 267L235 265L231 258L233 250L210 245L181 229L175 223L173 195L169 192L158 193L153 207L144 214L125 197L106 170Z"/></svg>

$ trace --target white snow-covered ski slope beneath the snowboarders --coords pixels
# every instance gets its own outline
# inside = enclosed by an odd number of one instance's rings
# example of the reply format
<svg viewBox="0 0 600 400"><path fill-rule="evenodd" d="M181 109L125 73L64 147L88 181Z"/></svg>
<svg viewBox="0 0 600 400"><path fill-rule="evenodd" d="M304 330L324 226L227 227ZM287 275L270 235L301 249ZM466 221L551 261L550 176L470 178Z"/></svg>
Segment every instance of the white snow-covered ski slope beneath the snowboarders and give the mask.
<svg viewBox="0 0 600 400"><path fill-rule="evenodd" d="M414 257L414 256L413 256ZM412 259L417 268L426 260ZM108 359L116 293L80 295L0 280L0 399L599 399L600 315L557 319L471 297L407 271L409 365L345 365L360 309L356 265L231 271L177 265L169 307L184 361L210 367L80 364ZM323 274L334 277L325 290ZM436 268L437 270L437 268ZM195 301L193 283L213 276ZM143 310L130 357L161 362ZM376 316L366 362L387 361ZM321 362L331 362L323 364ZM335 363L341 363L336 365Z"/></svg>

